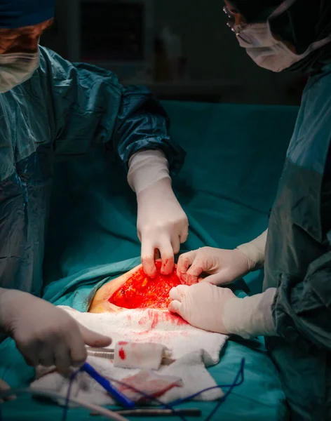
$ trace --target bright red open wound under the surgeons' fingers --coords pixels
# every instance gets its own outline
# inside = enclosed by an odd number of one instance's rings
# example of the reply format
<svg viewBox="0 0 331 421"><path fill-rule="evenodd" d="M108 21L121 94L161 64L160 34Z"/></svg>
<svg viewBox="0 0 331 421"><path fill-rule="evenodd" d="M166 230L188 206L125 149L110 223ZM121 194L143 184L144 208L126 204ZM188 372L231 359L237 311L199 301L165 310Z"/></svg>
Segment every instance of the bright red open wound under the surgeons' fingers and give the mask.
<svg viewBox="0 0 331 421"><path fill-rule="evenodd" d="M156 262L157 275L149 278L142 268L138 269L109 298L111 304L124 309L167 309L171 288L181 284L174 267L169 275L161 274L161 262Z"/></svg>

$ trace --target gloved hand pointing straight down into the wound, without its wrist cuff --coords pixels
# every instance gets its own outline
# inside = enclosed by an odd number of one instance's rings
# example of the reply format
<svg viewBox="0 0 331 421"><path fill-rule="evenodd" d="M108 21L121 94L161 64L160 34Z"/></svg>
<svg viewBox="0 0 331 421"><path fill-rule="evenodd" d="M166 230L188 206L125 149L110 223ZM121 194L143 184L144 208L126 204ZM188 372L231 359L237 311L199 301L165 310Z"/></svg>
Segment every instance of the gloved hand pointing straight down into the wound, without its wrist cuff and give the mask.
<svg viewBox="0 0 331 421"><path fill-rule="evenodd" d="M137 194L138 236L142 242L142 267L148 276L156 275L155 250L160 251L162 274L170 274L174 254L187 240L189 222L171 187L170 178L163 178Z"/></svg>

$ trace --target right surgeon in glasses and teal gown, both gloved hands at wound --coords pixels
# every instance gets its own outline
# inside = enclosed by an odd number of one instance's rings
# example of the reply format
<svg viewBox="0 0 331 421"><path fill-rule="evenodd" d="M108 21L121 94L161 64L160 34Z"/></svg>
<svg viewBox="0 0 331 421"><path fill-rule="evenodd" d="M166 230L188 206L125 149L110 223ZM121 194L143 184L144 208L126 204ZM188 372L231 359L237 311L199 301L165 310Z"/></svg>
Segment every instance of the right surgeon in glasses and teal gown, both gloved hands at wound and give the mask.
<svg viewBox="0 0 331 421"><path fill-rule="evenodd" d="M330 421L331 2L231 0L225 11L257 65L310 78L267 232L235 250L180 256L187 285L170 290L169 309L205 330L264 335L291 420ZM261 294L236 298L218 287L263 265Z"/></svg>

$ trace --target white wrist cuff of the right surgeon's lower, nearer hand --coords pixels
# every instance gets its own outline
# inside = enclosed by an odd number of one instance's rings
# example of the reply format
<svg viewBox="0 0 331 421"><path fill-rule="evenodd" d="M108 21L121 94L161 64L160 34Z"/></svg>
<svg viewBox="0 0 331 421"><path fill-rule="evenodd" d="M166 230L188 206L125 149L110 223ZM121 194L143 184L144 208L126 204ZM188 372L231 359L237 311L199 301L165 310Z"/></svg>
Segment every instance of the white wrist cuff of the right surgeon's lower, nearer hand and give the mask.
<svg viewBox="0 0 331 421"><path fill-rule="evenodd" d="M248 339L255 336L276 336L271 305L276 288L245 298L231 298L223 310L223 323L227 331Z"/></svg>

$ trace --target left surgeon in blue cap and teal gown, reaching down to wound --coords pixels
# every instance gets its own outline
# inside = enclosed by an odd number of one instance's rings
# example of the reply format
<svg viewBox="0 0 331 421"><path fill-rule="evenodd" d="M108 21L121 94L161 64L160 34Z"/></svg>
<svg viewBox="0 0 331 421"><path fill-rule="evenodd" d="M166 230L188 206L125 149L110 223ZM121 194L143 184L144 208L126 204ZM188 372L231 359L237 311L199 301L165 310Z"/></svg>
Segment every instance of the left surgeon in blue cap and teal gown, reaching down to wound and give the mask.
<svg viewBox="0 0 331 421"><path fill-rule="evenodd" d="M85 345L111 339L39 298L55 157L82 155L91 142L119 156L137 194L150 276L155 251L163 273L172 271L188 222L170 179L184 152L170 139L165 112L146 89L124 88L111 72L39 46L53 15L54 0L0 2L0 332L29 365L63 372L85 361Z"/></svg>

